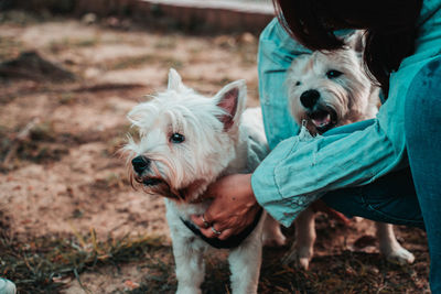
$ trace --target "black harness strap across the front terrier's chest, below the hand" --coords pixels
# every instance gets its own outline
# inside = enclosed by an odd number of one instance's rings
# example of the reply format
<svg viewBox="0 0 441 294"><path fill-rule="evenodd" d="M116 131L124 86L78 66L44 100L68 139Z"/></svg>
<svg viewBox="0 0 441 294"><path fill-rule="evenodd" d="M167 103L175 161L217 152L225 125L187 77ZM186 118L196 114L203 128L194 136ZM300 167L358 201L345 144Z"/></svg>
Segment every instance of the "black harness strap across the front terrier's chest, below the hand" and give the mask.
<svg viewBox="0 0 441 294"><path fill-rule="evenodd" d="M195 226L192 221L185 220L182 217L181 220L194 235L198 236L202 240L204 240L212 247L217 249L232 249L238 247L251 233L251 231L256 228L257 224L259 224L262 210L263 209L259 209L259 213L257 213L257 216L252 220L251 225L245 228L245 230L243 230L238 235L229 237L226 240L219 240L217 238L207 238L201 232L200 228L197 228L197 226Z"/></svg>

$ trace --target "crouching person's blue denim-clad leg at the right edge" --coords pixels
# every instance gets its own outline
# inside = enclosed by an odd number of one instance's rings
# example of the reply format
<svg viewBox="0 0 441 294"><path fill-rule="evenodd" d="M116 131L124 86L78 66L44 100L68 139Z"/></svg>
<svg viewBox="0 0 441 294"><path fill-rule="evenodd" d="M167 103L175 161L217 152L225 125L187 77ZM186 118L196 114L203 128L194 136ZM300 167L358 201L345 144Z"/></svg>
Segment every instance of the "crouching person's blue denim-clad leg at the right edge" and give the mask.
<svg viewBox="0 0 441 294"><path fill-rule="evenodd" d="M430 287L441 293L441 57L412 81L405 113L410 168L429 241Z"/></svg>

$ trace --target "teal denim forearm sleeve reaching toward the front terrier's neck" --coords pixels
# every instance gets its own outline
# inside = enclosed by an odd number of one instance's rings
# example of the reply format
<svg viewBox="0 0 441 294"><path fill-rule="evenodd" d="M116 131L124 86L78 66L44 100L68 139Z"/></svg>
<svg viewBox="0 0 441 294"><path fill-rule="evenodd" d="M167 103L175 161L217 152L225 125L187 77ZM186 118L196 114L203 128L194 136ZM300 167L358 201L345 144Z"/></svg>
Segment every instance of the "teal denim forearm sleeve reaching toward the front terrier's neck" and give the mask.
<svg viewBox="0 0 441 294"><path fill-rule="evenodd" d="M368 184L397 159L377 120L365 129L280 142L251 177L258 203L289 227L325 192Z"/></svg>

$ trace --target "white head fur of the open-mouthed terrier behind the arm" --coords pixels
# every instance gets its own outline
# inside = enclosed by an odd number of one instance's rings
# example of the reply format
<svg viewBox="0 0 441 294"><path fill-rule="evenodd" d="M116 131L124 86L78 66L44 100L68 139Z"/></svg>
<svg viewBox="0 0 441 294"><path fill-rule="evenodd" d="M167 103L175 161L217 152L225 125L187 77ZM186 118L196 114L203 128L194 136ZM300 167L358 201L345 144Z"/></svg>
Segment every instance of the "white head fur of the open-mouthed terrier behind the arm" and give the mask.
<svg viewBox="0 0 441 294"><path fill-rule="evenodd" d="M343 73L327 78L331 70ZM300 97L306 90L320 92L314 110L329 111L332 127L374 118L378 112L378 90L364 74L355 51L338 50L303 54L294 59L288 74L290 111L301 126L315 134L318 127L311 119L311 109L305 108Z"/></svg>

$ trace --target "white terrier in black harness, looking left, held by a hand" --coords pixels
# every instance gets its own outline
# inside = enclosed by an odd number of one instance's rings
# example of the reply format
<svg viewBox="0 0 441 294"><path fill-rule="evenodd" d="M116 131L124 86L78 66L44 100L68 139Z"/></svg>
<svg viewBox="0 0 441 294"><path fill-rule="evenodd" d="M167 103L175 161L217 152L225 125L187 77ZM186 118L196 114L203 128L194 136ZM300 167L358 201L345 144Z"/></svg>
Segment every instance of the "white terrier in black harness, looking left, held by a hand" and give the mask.
<svg viewBox="0 0 441 294"><path fill-rule="evenodd" d="M225 241L206 239L190 220L211 204L202 197L211 183L222 175L252 172L269 152L260 109L245 111L245 105L244 80L209 99L184 86L171 69L166 91L128 115L140 133L138 143L129 139L125 146L131 178L165 197L178 293L201 293L203 253L214 248L230 248L233 293L256 293L262 242L284 242L278 224L265 213L245 233Z"/></svg>

